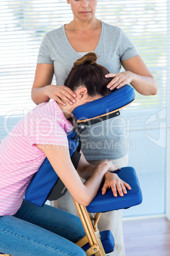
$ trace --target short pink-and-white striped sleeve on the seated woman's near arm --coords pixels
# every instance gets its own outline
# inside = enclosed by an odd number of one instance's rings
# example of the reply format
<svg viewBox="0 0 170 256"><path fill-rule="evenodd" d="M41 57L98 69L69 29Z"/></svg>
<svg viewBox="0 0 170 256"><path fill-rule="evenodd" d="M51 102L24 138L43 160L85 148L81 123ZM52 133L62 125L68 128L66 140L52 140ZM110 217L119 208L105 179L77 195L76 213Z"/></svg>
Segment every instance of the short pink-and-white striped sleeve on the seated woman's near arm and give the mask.
<svg viewBox="0 0 170 256"><path fill-rule="evenodd" d="M49 108L50 106L50 108ZM61 110L54 110L55 104L44 104L36 108L32 115L29 127L30 146L40 145L61 145L68 147L66 120Z"/></svg>

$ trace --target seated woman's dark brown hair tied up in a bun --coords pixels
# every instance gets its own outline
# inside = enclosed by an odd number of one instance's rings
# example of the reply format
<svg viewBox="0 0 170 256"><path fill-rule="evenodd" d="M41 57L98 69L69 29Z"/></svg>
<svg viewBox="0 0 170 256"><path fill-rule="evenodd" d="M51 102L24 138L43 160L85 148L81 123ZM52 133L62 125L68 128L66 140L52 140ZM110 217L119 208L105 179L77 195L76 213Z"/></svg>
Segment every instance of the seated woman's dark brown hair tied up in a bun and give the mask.
<svg viewBox="0 0 170 256"><path fill-rule="evenodd" d="M105 78L108 70L96 63L97 55L89 52L74 62L69 75L65 80L65 86L73 91L79 87L86 87L89 96L106 96L112 91L107 89L107 84L112 78Z"/></svg>

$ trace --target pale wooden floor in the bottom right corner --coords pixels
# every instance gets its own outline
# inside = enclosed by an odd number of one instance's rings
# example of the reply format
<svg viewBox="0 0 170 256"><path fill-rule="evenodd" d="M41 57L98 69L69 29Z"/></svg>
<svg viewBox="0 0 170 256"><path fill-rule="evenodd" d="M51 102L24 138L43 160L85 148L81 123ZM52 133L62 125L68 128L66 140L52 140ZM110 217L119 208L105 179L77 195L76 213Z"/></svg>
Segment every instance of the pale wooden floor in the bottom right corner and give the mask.
<svg viewBox="0 0 170 256"><path fill-rule="evenodd" d="M126 256L170 256L166 218L123 222Z"/></svg>

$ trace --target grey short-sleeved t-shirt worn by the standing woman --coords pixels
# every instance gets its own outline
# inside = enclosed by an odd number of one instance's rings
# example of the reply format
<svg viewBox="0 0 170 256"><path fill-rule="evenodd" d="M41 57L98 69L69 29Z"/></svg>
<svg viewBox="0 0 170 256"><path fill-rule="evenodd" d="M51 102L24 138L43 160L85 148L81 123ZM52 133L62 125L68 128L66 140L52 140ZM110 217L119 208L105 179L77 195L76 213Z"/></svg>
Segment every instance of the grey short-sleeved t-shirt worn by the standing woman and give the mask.
<svg viewBox="0 0 170 256"><path fill-rule="evenodd" d="M138 55L128 36L113 25L101 22L101 35L95 53L97 63L108 69L110 73L119 73L121 60ZM86 54L86 53L84 53ZM41 43L37 64L54 65L56 85L63 85L75 60L83 53L75 52L65 34L64 25L48 32ZM82 132L82 152L87 160L119 159L128 153L126 138L126 122L122 111L119 117L91 125Z"/></svg>

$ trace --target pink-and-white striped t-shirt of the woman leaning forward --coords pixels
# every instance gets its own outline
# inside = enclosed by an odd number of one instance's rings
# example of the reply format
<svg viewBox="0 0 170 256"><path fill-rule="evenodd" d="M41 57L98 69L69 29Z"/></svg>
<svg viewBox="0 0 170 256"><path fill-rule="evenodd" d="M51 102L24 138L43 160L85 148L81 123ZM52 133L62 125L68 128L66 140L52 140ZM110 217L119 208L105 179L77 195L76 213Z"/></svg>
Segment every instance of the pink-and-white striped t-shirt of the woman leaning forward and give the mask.
<svg viewBox="0 0 170 256"><path fill-rule="evenodd" d="M0 144L0 216L14 215L20 208L33 174L46 158L40 145L68 146L72 124L55 101L30 111Z"/></svg>

